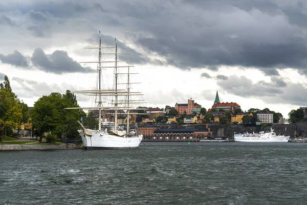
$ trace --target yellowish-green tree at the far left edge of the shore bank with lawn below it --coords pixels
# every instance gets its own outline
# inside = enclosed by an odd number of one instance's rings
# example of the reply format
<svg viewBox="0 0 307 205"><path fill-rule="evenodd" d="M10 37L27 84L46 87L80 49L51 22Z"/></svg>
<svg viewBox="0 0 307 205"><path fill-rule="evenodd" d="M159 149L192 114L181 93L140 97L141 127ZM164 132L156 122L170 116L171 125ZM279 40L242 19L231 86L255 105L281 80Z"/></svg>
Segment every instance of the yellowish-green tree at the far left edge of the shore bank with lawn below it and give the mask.
<svg viewBox="0 0 307 205"><path fill-rule="evenodd" d="M7 131L18 127L22 117L18 98L12 92L10 81L4 76L4 83L0 84L0 131L4 130L5 139Z"/></svg>

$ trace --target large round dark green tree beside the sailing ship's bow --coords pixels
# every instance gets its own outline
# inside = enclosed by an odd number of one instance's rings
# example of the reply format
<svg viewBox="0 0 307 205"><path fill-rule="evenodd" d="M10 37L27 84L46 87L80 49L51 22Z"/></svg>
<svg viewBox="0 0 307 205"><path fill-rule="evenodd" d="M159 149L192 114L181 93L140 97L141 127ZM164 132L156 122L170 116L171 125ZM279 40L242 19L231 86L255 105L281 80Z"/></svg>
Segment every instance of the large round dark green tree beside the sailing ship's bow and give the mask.
<svg viewBox="0 0 307 205"><path fill-rule="evenodd" d="M39 142L46 132L52 132L60 136L68 138L79 136L77 130L80 125L77 120L85 113L77 108L78 105L60 93L51 93L49 96L42 96L34 103L34 108L31 109L32 126L36 129L39 135Z"/></svg>

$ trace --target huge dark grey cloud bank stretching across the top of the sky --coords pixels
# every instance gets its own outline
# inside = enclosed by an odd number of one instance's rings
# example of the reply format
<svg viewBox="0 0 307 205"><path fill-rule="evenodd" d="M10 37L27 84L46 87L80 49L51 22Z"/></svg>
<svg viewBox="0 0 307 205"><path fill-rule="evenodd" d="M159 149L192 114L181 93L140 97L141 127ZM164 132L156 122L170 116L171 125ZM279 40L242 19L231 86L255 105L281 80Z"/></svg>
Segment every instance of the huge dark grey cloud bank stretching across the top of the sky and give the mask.
<svg viewBox="0 0 307 205"><path fill-rule="evenodd" d="M268 76L284 68L307 74L306 8L301 1L274 0L41 1L10 7L28 13L33 23L26 28L37 37L49 37L56 24L82 19L93 30L125 33L137 48L118 44L138 56L135 63L210 70L238 66ZM72 27L66 29L61 31Z"/></svg>

